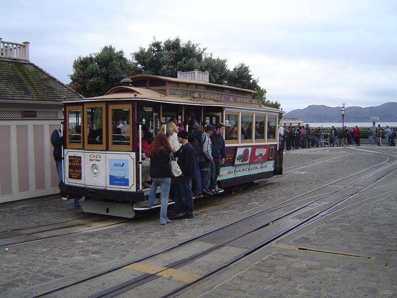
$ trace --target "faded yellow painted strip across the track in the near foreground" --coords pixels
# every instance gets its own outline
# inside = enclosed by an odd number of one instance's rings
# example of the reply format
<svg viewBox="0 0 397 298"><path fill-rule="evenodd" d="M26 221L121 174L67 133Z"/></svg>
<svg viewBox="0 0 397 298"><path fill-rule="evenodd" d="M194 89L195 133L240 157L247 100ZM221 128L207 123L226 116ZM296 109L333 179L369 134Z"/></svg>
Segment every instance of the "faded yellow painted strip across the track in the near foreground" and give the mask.
<svg viewBox="0 0 397 298"><path fill-rule="evenodd" d="M159 275L166 278L171 278L183 283L191 283L198 280L201 276L181 270L175 270L167 267L143 264L143 263L133 263L123 267L124 269L129 269L133 271L139 271L144 273L150 273Z"/></svg>

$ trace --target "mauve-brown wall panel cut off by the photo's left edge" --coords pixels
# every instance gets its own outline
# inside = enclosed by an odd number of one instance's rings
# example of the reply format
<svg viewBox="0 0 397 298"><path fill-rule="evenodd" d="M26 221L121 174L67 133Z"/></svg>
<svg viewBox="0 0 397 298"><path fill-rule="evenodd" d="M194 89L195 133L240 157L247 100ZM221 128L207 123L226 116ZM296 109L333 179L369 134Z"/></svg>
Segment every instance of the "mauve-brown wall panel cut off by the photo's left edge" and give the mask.
<svg viewBox="0 0 397 298"><path fill-rule="evenodd" d="M0 126L0 195L12 194L10 129Z"/></svg>

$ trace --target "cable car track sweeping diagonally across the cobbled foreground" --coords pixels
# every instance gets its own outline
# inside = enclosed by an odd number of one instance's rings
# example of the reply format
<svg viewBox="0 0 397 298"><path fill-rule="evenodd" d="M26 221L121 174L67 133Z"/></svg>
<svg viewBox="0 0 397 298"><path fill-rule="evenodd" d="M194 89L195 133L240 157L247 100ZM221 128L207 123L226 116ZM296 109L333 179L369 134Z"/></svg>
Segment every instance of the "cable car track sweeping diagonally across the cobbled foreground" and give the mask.
<svg viewBox="0 0 397 298"><path fill-rule="evenodd" d="M390 158L387 158L380 165L382 165L383 163L386 163L388 161L390 161ZM173 290L170 293L161 294L162 296L158 296L159 293L156 293L155 296L150 296L150 295L147 296L147 297L174 297L175 295L177 295L184 289L187 289L187 288L191 287L192 285L202 281L203 279L208 278L209 276L215 274L216 272L226 268L227 266L230 266L231 264L233 264L233 263L237 262L238 260L244 258L245 256L255 252L256 250L264 247L268 243L275 241L277 238L280 238L283 235L286 235L287 233L291 233L300 227L304 227L307 224L312 223L318 219L321 219L329 214L337 212L338 210L341 210L342 208L347 208L348 206L351 206L352 204L357 204L359 202L368 200L375 196L380 196L382 194L386 194L386 193L390 193L391 191L395 191L396 189L393 188L388 191L378 192L377 194L371 195L367 198L357 199L356 201L348 203L345 206L340 206L341 204L347 202L347 200L357 197L359 194L363 194L369 190L371 190L371 191L377 190L378 187L372 188L372 189L369 189L369 187L374 185L375 183L379 183L379 181L381 179L391 175L392 173L394 173L396 171L396 169L392 169L390 172L388 172L386 174L381 173L381 171L385 171L385 170L389 169L390 167L396 166L396 161L392 162L391 164L382 165L382 166L380 166L380 168L373 169L376 166L379 166L379 164L375 165L375 166L368 167L362 171L359 171L358 173L348 175L342 179L338 179L336 181L333 181L331 183L323 185L323 186L319 187L318 189L315 189L315 190L306 192L305 194L296 196L296 197L284 202L284 204L279 204L278 206L276 205L271 208L267 208L266 210L258 212L254 215L251 215L251 216L241 219L239 221L235 221L234 223L219 227L217 229L208 231L202 235L193 237L193 238L188 239L184 242L178 243L177 245L173 245L172 247L162 250L160 252L157 252L155 254L143 257L138 260L134 260L133 262L130 262L128 264L123 264L122 266L118 266L116 268L111 268L110 270L103 271L103 272L98 273L94 276L88 276L85 279L75 281L73 283L69 283L67 285L58 287L57 289L52 289L50 291L43 292L43 293L40 293L35 296L31 296L31 297L41 297L41 296L45 296L45 295L48 295L48 294L51 294L54 292L58 292L58 291L61 292L61 293L59 293L59 295L60 295L59 297L67 297L67 296L63 296L63 294L62 294L62 292L66 291L66 288L68 288L70 286L92 288L92 285L100 283L101 279L102 280L105 279L109 282L109 278L105 277L105 276L107 276L109 274L114 275L115 272L120 271L120 270L127 271L127 272L132 271L133 275L136 275L137 277L135 277L131 280L125 281L123 283L117 282L115 280L114 281L115 284L113 284L112 287L107 288L106 290L103 290L101 292L97 292L94 295L87 295L84 297L115 297L122 293L125 293L126 291L130 291L130 292L128 292L128 294L133 295L131 293L131 291L134 291L134 289L136 291L140 291L138 289L140 289L142 287L143 288L146 287L145 285L147 283L155 283L156 280L163 278L164 276L167 276L167 271L169 271L169 270L175 270L176 272L181 271L181 272L184 272L185 274L189 275L189 273L186 273L185 271L181 270L181 269L184 269L184 267L187 267L188 264L195 263L198 259L208 257L211 254L216 255L216 251L220 252L225 247L238 248L237 250L239 250L243 246L247 246L247 245L245 245L245 243L251 243L250 247L246 247L244 251L239 251L239 253L235 253L233 255L233 257L230 260L228 260L225 264L222 264L222 265L218 264L218 267L209 270L205 274L199 275L199 277L196 276L194 281L192 281L190 283L184 283L184 285L176 287L175 290ZM363 174L364 171L368 171L368 170L371 170L371 171L369 173ZM363 175L361 175L361 174L363 174ZM374 177L377 174L378 175L380 174L382 177L380 177L380 178ZM330 187L330 186L332 186L332 184L339 183L342 180L350 179L353 176L356 176L356 177L358 176L358 177L353 179L353 181L348 181L347 183L345 183L343 185L343 187L339 187L337 190L328 191L328 192L325 192L322 194L312 195L314 192L323 190L324 188ZM360 184L360 188L358 190L354 189L354 191L352 191L352 188L348 188L349 186L351 186L355 183L358 183L358 182L362 183L362 180L364 180L364 179L373 179L374 181ZM363 186L363 185L367 185L367 186ZM393 185L394 185L394 183L388 183L388 186L393 186ZM261 185L256 186L256 187L260 187L260 186ZM385 185L384 185L384 187L385 187ZM350 191L350 193L346 194L346 192L348 192L348 191ZM302 199L302 197L308 196L308 195L311 195L311 196L308 198ZM337 195L337 196L335 198L331 199L332 195ZM328 197L328 199L329 199L328 201L331 201L331 202L327 202L328 204L322 205L322 207L314 206L315 203L320 202L321 200L324 200L326 197ZM298 199L300 199L300 200L298 200ZM293 208L292 210L288 210L284 214L271 215L271 213L275 213L276 211L282 210L283 208L286 208L286 207L293 207L294 205L296 206L297 204L300 204L304 201L306 201L306 202L303 205L301 204L298 207ZM307 202L307 201L309 201L309 202ZM287 203L287 204L285 204L285 203ZM340 207L335 209L336 206L340 206ZM306 208L306 210L305 210L305 208ZM332 209L333 209L333 211L332 211ZM313 213L310 216L307 216L300 220L294 219L294 217L296 215L298 215L298 214L302 215L302 211L308 212L310 210L313 211ZM239 230L239 234L236 235L233 232L234 230ZM222 236L224 234L228 235L228 236L226 236L226 239L224 239L224 241L222 243L217 243L216 242L217 239L225 238L224 236ZM264 237L264 235L265 235L265 237ZM255 239L261 239L261 241L258 242ZM206 249L200 250L199 252L196 252L195 254L193 254L189 257L179 259L177 261L170 262L170 263L164 263L164 264L162 264L162 266L157 266L159 268L156 267L157 269L155 269L153 272L150 272L150 273L147 273L147 272L144 274L140 273L140 275L139 275L139 272L142 272L142 271L135 270L135 269L139 269L139 266L145 267L146 265L150 264L150 262L152 262L151 260L153 258L156 259L160 255L164 256L165 259L167 258L166 257L167 255L168 255L168 259L173 259L172 257L170 258L170 256L173 253L175 254L177 249L182 248L185 245L192 245L194 242L196 242L196 243L204 242L204 243L212 243L212 244L215 242L215 245L211 245L210 247L208 247ZM252 244L254 244L254 245L252 245ZM142 261L144 263L142 263ZM133 264L135 264L135 265L133 265ZM141 269L141 270L143 270L143 269ZM98 281L95 281L95 279L98 279ZM88 284L86 284L86 283L88 283ZM90 283L92 283L91 286L90 286ZM84 286L82 286L82 285L84 285ZM64 291L62 291L62 290L64 290ZM58 295L57 295L57 297L58 297Z"/></svg>

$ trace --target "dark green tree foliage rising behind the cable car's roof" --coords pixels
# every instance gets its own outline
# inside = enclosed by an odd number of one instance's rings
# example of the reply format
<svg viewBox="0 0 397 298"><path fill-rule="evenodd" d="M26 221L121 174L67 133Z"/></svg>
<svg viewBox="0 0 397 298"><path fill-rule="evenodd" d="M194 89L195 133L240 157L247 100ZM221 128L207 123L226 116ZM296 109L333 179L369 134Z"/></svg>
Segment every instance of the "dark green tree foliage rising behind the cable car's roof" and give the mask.
<svg viewBox="0 0 397 298"><path fill-rule="evenodd" d="M73 62L73 74L69 84L75 91L85 97L105 94L120 80L136 74L152 74L177 77L177 72L189 72L195 69L209 72L209 82L228 85L248 90L265 106L280 108L280 103L266 99L266 90L258 85L258 78L253 78L250 68L240 63L229 70L227 60L213 58L205 53L206 48L191 41L184 43L180 38L167 39L165 42L154 41L147 49L139 47L132 53L133 60L124 57L123 51L116 51L111 45L101 52L78 57Z"/></svg>

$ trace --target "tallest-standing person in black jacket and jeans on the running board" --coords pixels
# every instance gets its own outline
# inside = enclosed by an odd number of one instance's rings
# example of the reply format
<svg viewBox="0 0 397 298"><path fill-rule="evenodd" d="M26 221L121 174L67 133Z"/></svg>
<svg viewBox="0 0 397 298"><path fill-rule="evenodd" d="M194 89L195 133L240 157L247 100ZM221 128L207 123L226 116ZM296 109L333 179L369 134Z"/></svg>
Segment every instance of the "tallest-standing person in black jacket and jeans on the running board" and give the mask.
<svg viewBox="0 0 397 298"><path fill-rule="evenodd" d="M189 143L193 146L194 149L194 175L192 180L192 190L193 193L197 196L201 196L201 174L200 174L200 155L202 154L202 141L200 134L200 126L196 121L196 114L191 111L188 114L189 121Z"/></svg>

